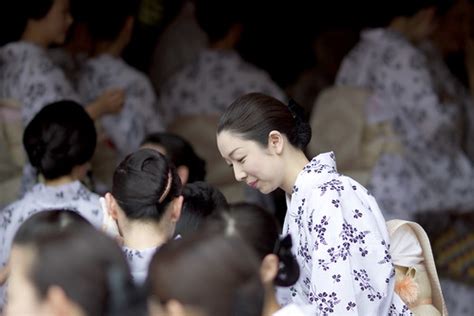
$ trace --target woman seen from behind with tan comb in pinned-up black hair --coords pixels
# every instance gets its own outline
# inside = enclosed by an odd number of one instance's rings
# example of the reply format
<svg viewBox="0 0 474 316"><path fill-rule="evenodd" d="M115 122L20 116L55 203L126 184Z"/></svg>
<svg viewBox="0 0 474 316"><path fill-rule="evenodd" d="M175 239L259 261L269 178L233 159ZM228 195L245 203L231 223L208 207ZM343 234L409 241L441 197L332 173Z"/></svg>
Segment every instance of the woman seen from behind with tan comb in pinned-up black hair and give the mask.
<svg viewBox="0 0 474 316"><path fill-rule="evenodd" d="M116 222L134 281L142 283L156 252L173 238L181 214L181 181L169 160L140 149L117 167L106 208Z"/></svg>

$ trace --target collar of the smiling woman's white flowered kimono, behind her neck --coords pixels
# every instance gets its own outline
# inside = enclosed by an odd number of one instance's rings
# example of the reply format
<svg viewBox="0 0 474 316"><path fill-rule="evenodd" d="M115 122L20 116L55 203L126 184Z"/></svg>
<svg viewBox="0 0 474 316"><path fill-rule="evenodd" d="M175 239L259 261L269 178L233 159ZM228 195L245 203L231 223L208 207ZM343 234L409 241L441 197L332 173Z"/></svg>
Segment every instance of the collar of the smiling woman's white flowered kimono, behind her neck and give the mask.
<svg viewBox="0 0 474 316"><path fill-rule="evenodd" d="M336 156L334 153L322 153L311 159L301 170L293 186L293 194L302 189L312 189L315 186L330 181L337 175Z"/></svg>

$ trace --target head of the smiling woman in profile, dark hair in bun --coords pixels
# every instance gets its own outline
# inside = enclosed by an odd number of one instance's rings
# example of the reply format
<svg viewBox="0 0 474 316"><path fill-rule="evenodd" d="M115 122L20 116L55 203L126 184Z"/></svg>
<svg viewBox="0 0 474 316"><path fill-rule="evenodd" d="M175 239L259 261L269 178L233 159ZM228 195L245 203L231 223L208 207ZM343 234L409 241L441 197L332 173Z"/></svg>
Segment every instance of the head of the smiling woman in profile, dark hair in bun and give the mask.
<svg viewBox="0 0 474 316"><path fill-rule="evenodd" d="M301 107L261 93L239 97L217 126L217 146L236 180L265 194L277 188L291 194L310 139Z"/></svg>

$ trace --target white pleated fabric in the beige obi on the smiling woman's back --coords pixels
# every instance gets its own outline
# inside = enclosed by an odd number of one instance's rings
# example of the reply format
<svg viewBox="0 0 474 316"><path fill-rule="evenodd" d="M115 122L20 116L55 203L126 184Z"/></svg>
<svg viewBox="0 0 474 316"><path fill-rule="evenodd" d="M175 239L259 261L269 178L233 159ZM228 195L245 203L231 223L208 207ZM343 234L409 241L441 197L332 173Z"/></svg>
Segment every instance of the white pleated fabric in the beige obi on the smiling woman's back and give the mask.
<svg viewBox="0 0 474 316"><path fill-rule="evenodd" d="M394 265L413 267L423 262L423 249L413 229L403 225L390 239L390 255Z"/></svg>

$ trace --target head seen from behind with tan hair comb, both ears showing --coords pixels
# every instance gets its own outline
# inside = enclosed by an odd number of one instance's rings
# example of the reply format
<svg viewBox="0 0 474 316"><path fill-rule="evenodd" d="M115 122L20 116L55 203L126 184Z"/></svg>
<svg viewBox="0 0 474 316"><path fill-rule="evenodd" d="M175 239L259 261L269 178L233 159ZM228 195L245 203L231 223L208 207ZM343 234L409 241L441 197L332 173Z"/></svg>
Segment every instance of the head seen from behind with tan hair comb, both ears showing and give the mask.
<svg viewBox="0 0 474 316"><path fill-rule="evenodd" d="M134 227L146 234L146 226L171 238L183 203L174 165L153 149L140 149L119 164L105 199L125 241Z"/></svg>

